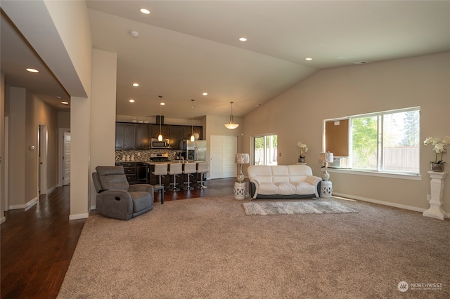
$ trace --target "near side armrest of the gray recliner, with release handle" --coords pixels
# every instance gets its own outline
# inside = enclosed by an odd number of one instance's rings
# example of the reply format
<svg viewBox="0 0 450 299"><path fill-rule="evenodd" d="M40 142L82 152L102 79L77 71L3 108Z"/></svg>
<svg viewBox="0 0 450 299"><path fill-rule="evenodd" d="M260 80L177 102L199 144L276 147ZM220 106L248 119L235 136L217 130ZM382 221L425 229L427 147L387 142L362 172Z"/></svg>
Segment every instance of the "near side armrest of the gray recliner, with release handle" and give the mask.
<svg viewBox="0 0 450 299"><path fill-rule="evenodd" d="M106 217L128 220L133 215L133 200L127 191L105 190L97 194L96 210Z"/></svg>

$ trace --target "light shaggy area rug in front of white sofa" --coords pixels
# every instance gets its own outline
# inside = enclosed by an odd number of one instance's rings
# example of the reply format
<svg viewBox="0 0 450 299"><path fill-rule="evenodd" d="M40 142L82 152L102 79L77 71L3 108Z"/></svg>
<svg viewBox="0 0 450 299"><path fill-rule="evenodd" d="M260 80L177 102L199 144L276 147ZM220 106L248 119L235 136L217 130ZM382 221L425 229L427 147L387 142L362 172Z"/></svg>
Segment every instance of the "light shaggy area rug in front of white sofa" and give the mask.
<svg viewBox="0 0 450 299"><path fill-rule="evenodd" d="M358 213L336 201L243 202L246 215Z"/></svg>

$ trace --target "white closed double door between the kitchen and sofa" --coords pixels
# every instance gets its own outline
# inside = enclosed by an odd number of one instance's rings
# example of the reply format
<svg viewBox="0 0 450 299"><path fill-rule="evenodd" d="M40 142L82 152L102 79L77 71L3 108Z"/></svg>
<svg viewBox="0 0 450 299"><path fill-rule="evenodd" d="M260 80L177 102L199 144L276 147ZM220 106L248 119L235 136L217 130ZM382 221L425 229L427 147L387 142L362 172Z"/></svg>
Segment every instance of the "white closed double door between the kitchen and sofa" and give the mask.
<svg viewBox="0 0 450 299"><path fill-rule="evenodd" d="M211 136L210 178L236 177L234 157L238 152L238 136Z"/></svg>

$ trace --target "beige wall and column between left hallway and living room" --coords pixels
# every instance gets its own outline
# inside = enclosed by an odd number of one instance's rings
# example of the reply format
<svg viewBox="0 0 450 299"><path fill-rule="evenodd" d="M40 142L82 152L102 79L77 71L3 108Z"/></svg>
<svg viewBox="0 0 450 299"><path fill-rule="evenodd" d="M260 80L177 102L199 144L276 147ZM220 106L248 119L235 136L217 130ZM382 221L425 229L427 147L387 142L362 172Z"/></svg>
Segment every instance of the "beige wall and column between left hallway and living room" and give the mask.
<svg viewBox="0 0 450 299"><path fill-rule="evenodd" d="M86 3L4 1L1 6L70 94L70 219L87 218L92 44Z"/></svg>

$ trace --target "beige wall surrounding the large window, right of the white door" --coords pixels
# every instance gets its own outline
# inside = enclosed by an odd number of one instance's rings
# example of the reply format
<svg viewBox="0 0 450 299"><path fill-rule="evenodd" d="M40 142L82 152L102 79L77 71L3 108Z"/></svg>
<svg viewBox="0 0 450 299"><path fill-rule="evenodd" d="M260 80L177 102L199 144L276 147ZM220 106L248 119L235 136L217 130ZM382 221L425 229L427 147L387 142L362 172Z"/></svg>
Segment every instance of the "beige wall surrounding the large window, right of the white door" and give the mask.
<svg viewBox="0 0 450 299"><path fill-rule="evenodd" d="M243 150L250 151L251 135L276 133L278 164L293 164L301 140L309 147L307 163L320 175L324 119L414 106L421 107L420 140L450 135L449 69L450 53L441 53L321 70L245 117ZM333 192L421 211L429 208L427 171L432 157L430 147L420 148L421 180L331 173ZM444 159L450 161L449 154ZM446 211L450 210L449 187L444 190Z"/></svg>

